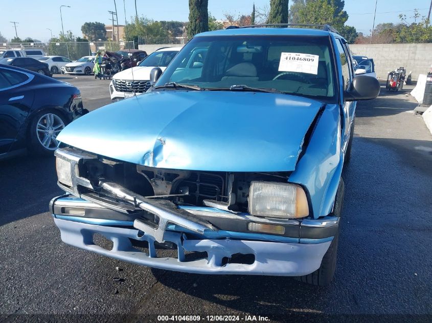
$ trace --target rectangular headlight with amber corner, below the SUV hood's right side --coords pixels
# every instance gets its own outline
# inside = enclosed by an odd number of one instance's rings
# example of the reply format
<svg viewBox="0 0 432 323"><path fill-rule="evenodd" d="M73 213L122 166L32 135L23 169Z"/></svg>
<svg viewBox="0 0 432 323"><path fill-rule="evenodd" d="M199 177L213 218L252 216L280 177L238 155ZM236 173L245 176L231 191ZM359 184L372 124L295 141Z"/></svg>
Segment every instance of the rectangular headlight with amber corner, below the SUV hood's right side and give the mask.
<svg viewBox="0 0 432 323"><path fill-rule="evenodd" d="M298 218L309 215L306 193L299 185L252 181L249 213L256 216Z"/></svg>

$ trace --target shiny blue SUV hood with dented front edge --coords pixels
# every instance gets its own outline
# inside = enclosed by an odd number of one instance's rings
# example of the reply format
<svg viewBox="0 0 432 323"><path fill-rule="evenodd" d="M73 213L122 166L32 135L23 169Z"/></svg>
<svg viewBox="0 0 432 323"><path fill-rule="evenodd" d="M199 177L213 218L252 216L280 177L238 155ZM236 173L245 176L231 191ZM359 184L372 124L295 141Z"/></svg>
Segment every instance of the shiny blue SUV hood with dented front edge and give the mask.
<svg viewBox="0 0 432 323"><path fill-rule="evenodd" d="M321 105L286 94L152 91L80 117L57 139L150 167L290 171Z"/></svg>

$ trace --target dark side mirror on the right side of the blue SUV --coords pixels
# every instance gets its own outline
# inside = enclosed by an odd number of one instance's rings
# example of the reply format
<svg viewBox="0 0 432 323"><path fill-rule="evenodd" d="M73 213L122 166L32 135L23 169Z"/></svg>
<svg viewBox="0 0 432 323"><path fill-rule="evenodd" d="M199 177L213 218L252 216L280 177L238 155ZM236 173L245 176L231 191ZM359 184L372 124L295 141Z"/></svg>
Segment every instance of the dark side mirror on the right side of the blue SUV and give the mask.
<svg viewBox="0 0 432 323"><path fill-rule="evenodd" d="M344 101L372 100L379 94L379 81L366 75L353 78L351 86L344 92Z"/></svg>

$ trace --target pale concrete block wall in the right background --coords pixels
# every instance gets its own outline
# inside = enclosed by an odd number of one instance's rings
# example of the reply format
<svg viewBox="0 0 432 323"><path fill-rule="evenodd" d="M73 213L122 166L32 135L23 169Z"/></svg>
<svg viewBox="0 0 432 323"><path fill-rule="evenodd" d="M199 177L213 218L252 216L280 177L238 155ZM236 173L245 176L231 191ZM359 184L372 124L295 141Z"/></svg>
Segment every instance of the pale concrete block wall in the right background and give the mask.
<svg viewBox="0 0 432 323"><path fill-rule="evenodd" d="M406 73L412 71L412 79L430 71L432 64L432 43L427 44L353 44L353 55L365 55L373 58L375 71L379 79L386 79L387 73L400 66Z"/></svg>

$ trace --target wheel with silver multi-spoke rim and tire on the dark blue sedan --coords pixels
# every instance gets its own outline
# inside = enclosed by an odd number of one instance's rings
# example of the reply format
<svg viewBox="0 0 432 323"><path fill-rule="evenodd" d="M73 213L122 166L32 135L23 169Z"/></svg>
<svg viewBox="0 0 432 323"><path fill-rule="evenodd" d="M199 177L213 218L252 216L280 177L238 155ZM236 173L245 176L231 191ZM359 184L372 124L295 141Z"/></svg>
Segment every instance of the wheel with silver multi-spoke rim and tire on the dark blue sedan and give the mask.
<svg viewBox="0 0 432 323"><path fill-rule="evenodd" d="M37 155L50 155L57 149L57 135L66 126L63 115L54 110L41 111L30 123L30 150Z"/></svg>

